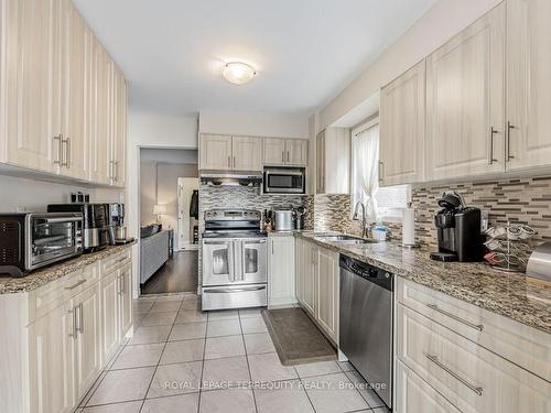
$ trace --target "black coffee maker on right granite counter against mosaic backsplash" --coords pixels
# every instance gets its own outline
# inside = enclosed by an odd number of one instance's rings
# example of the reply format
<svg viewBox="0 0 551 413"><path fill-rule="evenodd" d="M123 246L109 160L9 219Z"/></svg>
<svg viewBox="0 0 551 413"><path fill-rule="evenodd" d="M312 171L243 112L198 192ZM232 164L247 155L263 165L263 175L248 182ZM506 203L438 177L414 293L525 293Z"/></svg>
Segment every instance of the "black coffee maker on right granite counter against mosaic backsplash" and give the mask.
<svg viewBox="0 0 551 413"><path fill-rule="evenodd" d="M480 209L465 206L456 192L442 194L439 205L442 209L434 217L439 252L432 252L431 259L444 262L480 261Z"/></svg>

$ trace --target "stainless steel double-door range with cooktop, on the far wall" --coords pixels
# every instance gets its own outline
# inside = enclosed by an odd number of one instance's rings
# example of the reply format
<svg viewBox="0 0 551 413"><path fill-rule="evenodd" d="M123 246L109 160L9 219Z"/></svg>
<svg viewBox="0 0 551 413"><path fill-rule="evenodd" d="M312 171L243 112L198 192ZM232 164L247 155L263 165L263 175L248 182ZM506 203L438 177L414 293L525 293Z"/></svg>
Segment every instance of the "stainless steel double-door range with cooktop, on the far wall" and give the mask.
<svg viewBox="0 0 551 413"><path fill-rule="evenodd" d="M251 209L205 211L203 309L268 305L267 236Z"/></svg>

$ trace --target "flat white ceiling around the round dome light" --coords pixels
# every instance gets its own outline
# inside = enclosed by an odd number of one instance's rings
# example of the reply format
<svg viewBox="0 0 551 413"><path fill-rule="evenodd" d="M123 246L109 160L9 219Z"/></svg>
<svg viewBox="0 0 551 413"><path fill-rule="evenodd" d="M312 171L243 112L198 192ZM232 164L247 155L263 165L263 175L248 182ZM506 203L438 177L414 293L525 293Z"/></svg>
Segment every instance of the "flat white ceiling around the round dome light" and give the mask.
<svg viewBox="0 0 551 413"><path fill-rule="evenodd" d="M74 0L125 72L130 106L310 113L437 0ZM235 86L228 61L258 76Z"/></svg>

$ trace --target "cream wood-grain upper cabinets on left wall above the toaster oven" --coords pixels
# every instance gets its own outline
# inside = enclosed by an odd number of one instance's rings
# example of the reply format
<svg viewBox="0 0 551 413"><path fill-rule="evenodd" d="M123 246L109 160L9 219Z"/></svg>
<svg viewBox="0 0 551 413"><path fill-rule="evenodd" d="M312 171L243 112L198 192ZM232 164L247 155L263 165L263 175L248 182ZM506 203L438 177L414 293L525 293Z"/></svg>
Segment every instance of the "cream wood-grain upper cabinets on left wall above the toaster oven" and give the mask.
<svg viewBox="0 0 551 413"><path fill-rule="evenodd" d="M0 0L0 162L125 186L127 86L69 0Z"/></svg>

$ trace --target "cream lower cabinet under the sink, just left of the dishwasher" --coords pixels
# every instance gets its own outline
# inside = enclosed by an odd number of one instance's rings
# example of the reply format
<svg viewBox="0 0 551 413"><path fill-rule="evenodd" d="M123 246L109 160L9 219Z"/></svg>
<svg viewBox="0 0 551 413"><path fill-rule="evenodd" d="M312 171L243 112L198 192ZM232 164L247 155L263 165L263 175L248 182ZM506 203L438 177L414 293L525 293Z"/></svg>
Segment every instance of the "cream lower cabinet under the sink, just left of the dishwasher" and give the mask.
<svg viewBox="0 0 551 413"><path fill-rule="evenodd" d="M338 344L338 253L299 238L295 261L299 303Z"/></svg>

